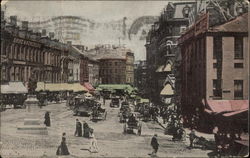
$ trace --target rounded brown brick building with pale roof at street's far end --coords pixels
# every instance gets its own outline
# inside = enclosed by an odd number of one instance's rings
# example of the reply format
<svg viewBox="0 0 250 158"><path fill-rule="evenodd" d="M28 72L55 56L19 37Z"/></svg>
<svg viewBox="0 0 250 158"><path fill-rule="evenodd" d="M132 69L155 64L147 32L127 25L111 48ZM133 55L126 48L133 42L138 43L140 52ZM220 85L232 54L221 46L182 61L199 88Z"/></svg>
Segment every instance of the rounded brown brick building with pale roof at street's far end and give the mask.
<svg viewBox="0 0 250 158"><path fill-rule="evenodd" d="M134 84L134 54L130 49L99 45L84 53L99 61L99 83Z"/></svg>

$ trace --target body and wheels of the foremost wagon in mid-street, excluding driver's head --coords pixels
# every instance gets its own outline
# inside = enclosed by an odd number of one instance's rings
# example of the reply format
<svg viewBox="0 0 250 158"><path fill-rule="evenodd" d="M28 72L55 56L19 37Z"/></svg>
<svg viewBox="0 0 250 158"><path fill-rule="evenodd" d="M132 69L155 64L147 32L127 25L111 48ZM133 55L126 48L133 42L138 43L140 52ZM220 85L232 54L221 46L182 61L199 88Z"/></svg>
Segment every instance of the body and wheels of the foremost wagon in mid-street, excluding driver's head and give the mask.
<svg viewBox="0 0 250 158"><path fill-rule="evenodd" d="M123 133L127 134L128 132L133 132L134 129L137 130L137 134L140 136L142 132L142 124L138 118L135 118L134 121L126 121L123 126Z"/></svg>

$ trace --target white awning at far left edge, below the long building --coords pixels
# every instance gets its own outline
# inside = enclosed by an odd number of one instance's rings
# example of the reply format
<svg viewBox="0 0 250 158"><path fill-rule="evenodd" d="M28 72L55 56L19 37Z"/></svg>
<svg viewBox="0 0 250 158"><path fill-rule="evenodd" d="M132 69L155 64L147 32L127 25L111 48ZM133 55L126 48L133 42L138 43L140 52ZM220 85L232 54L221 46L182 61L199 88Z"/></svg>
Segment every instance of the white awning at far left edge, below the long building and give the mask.
<svg viewBox="0 0 250 158"><path fill-rule="evenodd" d="M28 93L28 89L22 82L9 82L1 85L2 94L20 94Z"/></svg>

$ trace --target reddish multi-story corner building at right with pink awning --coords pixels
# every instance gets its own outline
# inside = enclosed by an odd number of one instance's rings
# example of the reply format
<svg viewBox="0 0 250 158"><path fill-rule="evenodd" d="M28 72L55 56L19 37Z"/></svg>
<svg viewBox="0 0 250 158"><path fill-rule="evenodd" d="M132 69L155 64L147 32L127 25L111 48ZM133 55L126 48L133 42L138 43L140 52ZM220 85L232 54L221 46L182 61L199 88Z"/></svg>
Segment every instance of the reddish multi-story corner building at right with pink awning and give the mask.
<svg viewBox="0 0 250 158"><path fill-rule="evenodd" d="M193 127L208 127L208 121L213 126L207 113L232 116L246 112L249 104L248 13L215 26L209 15L203 14L179 39L182 114Z"/></svg>

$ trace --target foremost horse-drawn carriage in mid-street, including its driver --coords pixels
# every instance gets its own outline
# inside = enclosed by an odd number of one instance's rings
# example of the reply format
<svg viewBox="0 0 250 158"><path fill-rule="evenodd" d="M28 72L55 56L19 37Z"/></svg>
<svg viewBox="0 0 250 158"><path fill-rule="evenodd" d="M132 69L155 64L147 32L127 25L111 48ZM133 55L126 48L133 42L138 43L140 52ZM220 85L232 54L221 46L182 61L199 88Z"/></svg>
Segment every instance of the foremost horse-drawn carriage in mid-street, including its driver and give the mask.
<svg viewBox="0 0 250 158"><path fill-rule="evenodd" d="M132 132L133 130L137 130L137 134L141 135L142 131L142 124L139 120L139 118L136 116L135 113L131 113L129 118L125 121L124 126L123 126L123 133L126 134L128 132Z"/></svg>

